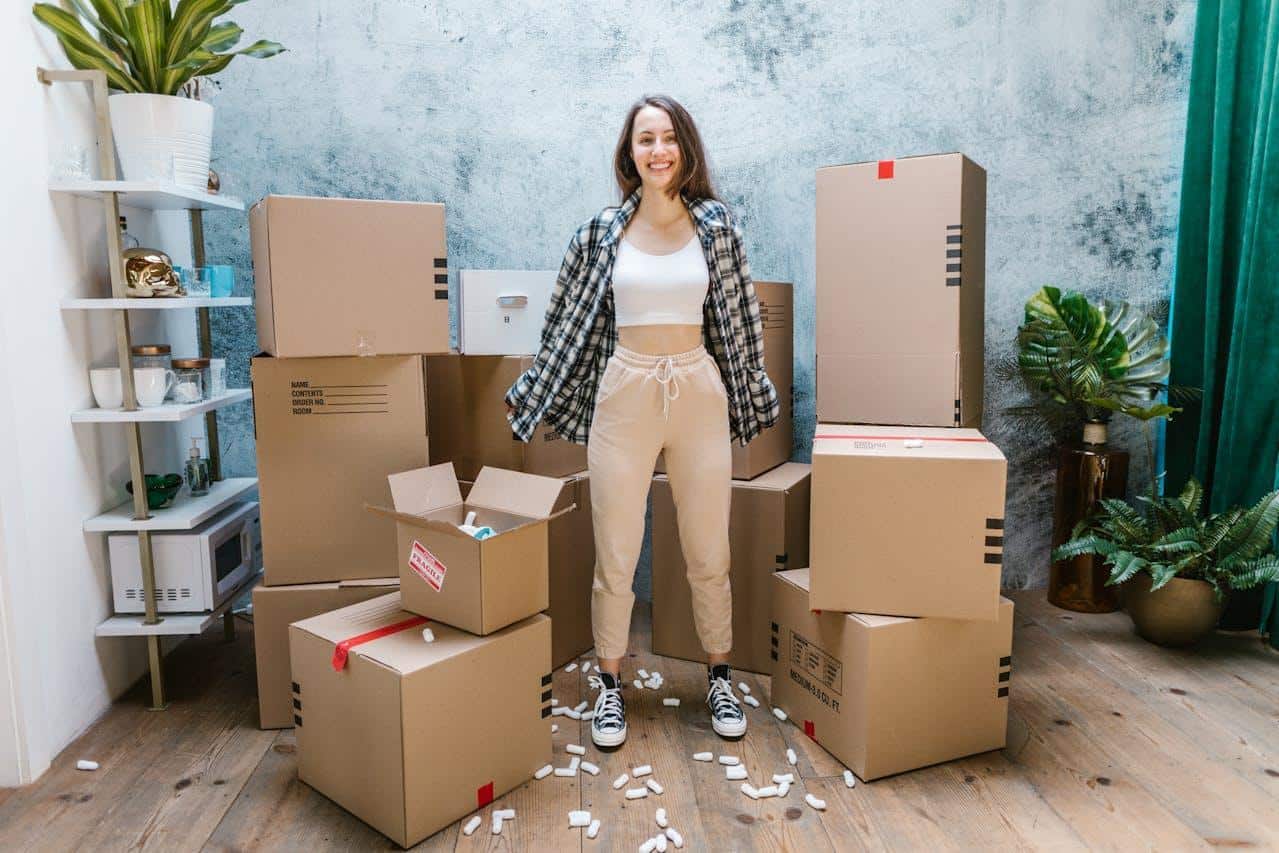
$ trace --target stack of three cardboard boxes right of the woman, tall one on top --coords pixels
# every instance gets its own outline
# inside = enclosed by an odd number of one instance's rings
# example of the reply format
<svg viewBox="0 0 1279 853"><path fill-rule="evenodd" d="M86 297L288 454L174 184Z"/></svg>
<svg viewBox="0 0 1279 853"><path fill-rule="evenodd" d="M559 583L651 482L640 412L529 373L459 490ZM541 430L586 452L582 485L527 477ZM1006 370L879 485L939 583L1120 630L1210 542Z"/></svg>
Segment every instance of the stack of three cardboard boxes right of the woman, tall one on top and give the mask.
<svg viewBox="0 0 1279 853"><path fill-rule="evenodd" d="M774 577L773 702L863 779L1004 746L985 198L958 153L817 170L811 568Z"/></svg>

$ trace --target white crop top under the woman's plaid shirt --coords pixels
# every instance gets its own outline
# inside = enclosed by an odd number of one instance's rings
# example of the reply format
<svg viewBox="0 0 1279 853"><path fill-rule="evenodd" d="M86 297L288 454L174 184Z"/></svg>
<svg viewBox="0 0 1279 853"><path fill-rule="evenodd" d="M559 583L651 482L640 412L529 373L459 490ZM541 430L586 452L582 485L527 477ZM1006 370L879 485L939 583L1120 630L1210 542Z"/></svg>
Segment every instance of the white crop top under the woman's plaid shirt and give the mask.
<svg viewBox="0 0 1279 853"><path fill-rule="evenodd" d="M669 254L648 254L623 237L613 263L616 325L701 326L710 280L696 233L684 248Z"/></svg>

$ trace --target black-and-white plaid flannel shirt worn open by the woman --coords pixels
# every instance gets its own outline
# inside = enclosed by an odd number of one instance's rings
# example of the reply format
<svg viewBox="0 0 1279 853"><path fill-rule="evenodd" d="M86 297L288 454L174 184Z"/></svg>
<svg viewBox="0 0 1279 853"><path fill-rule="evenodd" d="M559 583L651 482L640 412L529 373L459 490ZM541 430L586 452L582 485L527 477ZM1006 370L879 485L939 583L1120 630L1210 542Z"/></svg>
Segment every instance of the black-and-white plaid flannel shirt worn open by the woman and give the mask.
<svg viewBox="0 0 1279 853"><path fill-rule="evenodd" d="M622 233L640 206L637 189L620 207L606 207L578 228L551 292L533 364L506 391L512 432L532 439L545 421L564 439L586 444L595 391L618 344L613 265ZM764 326L742 246L728 207L710 198L684 198L710 270L702 306L702 343L728 390L732 436L746 444L776 423L776 389L764 371Z"/></svg>

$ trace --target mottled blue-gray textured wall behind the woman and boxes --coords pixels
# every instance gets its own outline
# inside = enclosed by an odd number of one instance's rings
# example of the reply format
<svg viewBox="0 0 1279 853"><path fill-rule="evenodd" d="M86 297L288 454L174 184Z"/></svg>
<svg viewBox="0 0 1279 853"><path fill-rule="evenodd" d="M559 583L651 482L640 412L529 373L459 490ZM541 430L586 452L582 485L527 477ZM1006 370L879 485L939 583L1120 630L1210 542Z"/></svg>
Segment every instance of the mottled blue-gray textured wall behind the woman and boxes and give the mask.
<svg viewBox="0 0 1279 853"><path fill-rule="evenodd" d="M1041 284L1154 304L1172 274L1193 5L251 3L235 19L289 52L220 75L215 168L247 200L444 202L451 270L547 269L614 201L627 106L668 92L701 128L756 276L796 283L794 457L807 460L813 170L939 151L986 168L989 363ZM234 263L249 293L247 221L207 223L211 262ZM215 335L247 382L251 313L219 313ZM1010 463L1004 581L1042 586L1053 474L1045 444L1001 412L1019 396L987 371L985 430ZM237 408L221 419L226 462L248 473Z"/></svg>

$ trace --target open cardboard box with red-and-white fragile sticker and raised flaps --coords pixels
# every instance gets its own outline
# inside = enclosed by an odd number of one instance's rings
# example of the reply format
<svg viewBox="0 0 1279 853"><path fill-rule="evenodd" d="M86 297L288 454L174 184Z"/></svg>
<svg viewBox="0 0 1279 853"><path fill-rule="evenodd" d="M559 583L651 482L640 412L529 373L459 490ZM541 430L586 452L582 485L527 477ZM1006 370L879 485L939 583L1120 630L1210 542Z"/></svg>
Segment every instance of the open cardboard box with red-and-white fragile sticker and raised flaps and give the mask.
<svg viewBox="0 0 1279 853"><path fill-rule="evenodd" d="M463 503L450 463L388 477L394 509L367 506L395 519L395 549L405 610L473 634L546 610L547 519L564 485L503 468L483 468ZM477 540L458 529L475 510Z"/></svg>

